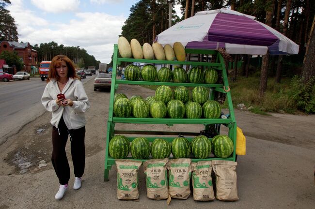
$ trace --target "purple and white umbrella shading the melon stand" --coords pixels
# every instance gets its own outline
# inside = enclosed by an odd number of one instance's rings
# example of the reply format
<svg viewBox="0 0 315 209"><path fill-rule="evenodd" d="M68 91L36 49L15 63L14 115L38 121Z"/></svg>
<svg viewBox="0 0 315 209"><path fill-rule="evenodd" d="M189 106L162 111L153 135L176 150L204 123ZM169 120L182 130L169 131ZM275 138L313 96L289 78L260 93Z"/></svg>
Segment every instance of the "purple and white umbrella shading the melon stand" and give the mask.
<svg viewBox="0 0 315 209"><path fill-rule="evenodd" d="M298 54L299 45L254 16L233 10L197 12L157 35L162 45L181 42L186 48L225 48L229 54Z"/></svg>

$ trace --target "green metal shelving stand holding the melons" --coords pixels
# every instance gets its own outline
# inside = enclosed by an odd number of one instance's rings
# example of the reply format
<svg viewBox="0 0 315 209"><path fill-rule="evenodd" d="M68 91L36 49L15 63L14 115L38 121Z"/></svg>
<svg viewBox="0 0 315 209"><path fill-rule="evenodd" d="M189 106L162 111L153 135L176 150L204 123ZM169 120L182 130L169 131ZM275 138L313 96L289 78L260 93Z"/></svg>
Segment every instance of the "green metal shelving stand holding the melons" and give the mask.
<svg viewBox="0 0 315 209"><path fill-rule="evenodd" d="M109 108L109 118L107 122L107 134L106 134L106 150L105 150L105 170L104 170L104 181L109 180L109 170L111 166L115 164L115 159L109 156L109 142L114 134L138 134L138 136L127 137L131 142L134 138L143 136L143 135L199 135L199 133L187 133L187 132L155 132L155 131L122 131L115 130L115 123L138 123L138 124L225 124L229 128L228 135L234 142L234 152L233 154L225 159L221 158L207 158L207 159L194 159L192 162L206 161L206 160L230 160L236 161L236 120L234 115L234 109L232 104L231 92L229 91L229 84L225 69L224 60L220 53L214 50L205 50L205 49L185 49L186 53L190 54L208 54L212 56L217 56L217 62L197 62L197 61L168 61L168 60L139 60L139 59L127 59L127 58L118 58L118 45L114 45L114 56L113 56L113 66L112 66L112 80L111 80L111 89L110 89L110 108ZM213 67L216 70L222 71L223 84L192 84L192 83L173 83L173 82L148 82L148 81L127 81L116 79L116 68L117 64L120 62L144 62L144 63L159 63L159 64L175 64L175 65L190 65L190 66L207 66ZM119 84L129 84L129 85L166 85L166 86L186 86L186 87L195 87L195 86L204 86L210 88L212 91L219 91L226 94L226 99L228 102L229 109L229 118L228 119L154 119L154 118L116 118L113 117L113 104L114 104L114 95L115 90ZM210 98L213 99L213 94L210 95ZM172 142L174 137L158 137L164 138L165 140ZM146 137L149 142L153 142L157 137ZM187 137L189 141L193 137ZM130 158L127 158L130 159ZM137 159L133 159L137 160ZM144 162L145 160L138 160Z"/></svg>

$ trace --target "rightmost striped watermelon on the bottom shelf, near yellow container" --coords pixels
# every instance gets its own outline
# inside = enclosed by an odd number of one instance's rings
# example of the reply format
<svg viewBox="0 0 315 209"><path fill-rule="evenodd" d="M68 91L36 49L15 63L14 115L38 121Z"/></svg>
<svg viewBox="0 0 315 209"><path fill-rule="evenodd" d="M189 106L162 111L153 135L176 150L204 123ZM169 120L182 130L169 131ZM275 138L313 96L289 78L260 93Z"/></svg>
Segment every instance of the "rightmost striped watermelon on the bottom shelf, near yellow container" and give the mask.
<svg viewBox="0 0 315 209"><path fill-rule="evenodd" d="M234 150L232 139L227 135L216 135L212 139L213 154L219 158L229 157Z"/></svg>

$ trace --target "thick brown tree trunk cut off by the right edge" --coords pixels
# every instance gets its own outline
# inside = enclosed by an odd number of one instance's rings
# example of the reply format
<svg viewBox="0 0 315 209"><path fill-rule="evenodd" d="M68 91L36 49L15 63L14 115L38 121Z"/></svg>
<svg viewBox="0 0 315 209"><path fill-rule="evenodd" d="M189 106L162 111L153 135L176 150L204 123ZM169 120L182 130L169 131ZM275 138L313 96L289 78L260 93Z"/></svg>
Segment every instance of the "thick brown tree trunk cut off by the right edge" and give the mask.
<svg viewBox="0 0 315 209"><path fill-rule="evenodd" d="M302 77L303 82L306 83L315 76L315 16L313 19L312 28L310 31L309 40L306 46L306 52L303 60Z"/></svg>

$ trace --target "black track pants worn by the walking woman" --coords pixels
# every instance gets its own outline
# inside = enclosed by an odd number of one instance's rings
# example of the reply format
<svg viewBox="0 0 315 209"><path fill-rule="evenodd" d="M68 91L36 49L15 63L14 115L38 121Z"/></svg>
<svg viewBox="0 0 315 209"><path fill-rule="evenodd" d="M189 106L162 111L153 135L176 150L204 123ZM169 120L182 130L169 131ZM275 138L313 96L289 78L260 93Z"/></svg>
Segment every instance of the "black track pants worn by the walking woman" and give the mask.
<svg viewBox="0 0 315 209"><path fill-rule="evenodd" d="M63 185L67 184L70 179L70 167L65 152L68 134L70 134L71 140L71 156L75 177L82 177L85 166L85 126L68 131L62 117L59 122L59 131L55 126L52 126L51 161L59 179L59 183Z"/></svg>

